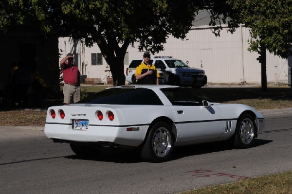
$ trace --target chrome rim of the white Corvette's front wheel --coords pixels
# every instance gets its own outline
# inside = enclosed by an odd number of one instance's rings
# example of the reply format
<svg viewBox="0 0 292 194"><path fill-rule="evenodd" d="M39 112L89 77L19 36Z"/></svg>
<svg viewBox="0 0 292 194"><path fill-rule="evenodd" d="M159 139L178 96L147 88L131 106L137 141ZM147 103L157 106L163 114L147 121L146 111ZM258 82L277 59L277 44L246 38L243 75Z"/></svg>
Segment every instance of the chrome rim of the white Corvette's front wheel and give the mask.
<svg viewBox="0 0 292 194"><path fill-rule="evenodd" d="M239 127L240 140L244 144L249 144L254 139L255 126L250 118L245 118L240 123Z"/></svg>

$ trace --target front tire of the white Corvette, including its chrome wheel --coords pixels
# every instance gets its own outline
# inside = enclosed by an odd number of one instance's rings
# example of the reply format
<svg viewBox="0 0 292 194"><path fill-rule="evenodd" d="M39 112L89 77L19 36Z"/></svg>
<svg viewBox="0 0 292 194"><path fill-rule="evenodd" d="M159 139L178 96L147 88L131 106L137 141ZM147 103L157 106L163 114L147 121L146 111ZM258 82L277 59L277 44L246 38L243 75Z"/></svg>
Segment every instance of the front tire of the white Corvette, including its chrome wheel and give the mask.
<svg viewBox="0 0 292 194"><path fill-rule="evenodd" d="M255 118L250 114L242 115L237 122L234 145L237 148L250 148L255 143Z"/></svg>

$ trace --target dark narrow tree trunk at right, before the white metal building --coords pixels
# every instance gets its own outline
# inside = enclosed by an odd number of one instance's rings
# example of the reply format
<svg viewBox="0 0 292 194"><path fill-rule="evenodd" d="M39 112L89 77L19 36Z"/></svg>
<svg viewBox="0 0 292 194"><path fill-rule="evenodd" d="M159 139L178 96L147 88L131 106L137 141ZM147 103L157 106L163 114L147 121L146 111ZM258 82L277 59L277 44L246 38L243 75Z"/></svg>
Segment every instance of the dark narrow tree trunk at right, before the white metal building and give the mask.
<svg viewBox="0 0 292 194"><path fill-rule="evenodd" d="M267 90L267 50L263 45L259 46L259 56L256 58L261 64L261 89Z"/></svg>

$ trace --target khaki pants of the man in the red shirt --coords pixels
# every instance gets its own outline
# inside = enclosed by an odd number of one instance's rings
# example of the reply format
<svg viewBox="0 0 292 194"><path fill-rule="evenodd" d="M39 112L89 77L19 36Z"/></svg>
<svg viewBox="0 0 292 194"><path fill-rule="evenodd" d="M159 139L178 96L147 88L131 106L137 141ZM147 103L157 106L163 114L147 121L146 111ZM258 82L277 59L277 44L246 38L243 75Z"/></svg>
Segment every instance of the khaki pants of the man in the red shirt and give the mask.
<svg viewBox="0 0 292 194"><path fill-rule="evenodd" d="M80 86L64 84L63 94L65 104L77 103L80 101Z"/></svg>

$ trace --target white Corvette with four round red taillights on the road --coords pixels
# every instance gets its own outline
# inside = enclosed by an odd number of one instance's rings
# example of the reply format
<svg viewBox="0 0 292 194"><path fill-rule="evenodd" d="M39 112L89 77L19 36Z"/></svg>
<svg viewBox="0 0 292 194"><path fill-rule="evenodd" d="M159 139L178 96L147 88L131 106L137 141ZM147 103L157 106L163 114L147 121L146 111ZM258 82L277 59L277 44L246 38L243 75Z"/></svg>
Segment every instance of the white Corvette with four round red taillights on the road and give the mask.
<svg viewBox="0 0 292 194"><path fill-rule="evenodd" d="M209 103L176 86L129 85L49 107L45 134L80 156L130 147L146 161L163 162L177 145L231 140L249 148L263 128L263 116L250 106Z"/></svg>

